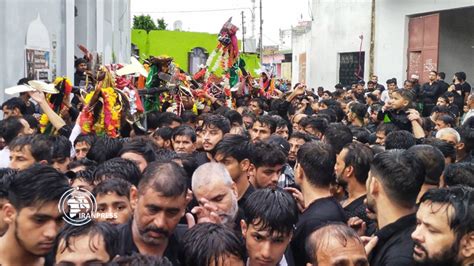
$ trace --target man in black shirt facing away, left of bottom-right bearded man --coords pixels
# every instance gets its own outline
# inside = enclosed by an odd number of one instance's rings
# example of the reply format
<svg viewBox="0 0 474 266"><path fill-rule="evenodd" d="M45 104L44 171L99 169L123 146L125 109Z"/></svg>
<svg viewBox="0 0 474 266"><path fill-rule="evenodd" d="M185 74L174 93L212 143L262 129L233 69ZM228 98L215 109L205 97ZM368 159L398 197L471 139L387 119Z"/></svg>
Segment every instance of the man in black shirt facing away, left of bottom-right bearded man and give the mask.
<svg viewBox="0 0 474 266"><path fill-rule="evenodd" d="M367 208L376 214L377 245L370 265L413 265L416 198L424 179L423 164L405 150L377 154L367 179Z"/></svg>

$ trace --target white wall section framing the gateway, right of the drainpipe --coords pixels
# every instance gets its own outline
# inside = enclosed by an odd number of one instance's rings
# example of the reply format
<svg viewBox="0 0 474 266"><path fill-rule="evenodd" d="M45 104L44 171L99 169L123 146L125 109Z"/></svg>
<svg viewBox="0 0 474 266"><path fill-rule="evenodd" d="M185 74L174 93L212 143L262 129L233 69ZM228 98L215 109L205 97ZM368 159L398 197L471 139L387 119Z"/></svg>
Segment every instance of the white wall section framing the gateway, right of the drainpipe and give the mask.
<svg viewBox="0 0 474 266"><path fill-rule="evenodd" d="M406 53L410 16L473 5L474 0L377 0L374 69L379 81L391 77L399 80L407 78ZM466 18L466 22L468 20L472 21L473 18ZM440 35L441 38L443 36Z"/></svg>

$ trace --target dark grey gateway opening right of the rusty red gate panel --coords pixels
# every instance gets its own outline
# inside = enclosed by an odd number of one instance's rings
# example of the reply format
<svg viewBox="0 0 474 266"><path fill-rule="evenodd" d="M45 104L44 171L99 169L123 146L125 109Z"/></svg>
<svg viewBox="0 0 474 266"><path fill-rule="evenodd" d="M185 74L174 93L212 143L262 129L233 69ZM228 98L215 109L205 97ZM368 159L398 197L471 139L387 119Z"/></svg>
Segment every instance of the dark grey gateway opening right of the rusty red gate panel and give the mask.
<svg viewBox="0 0 474 266"><path fill-rule="evenodd" d="M441 12L438 61L446 81L459 71L474 80L474 7Z"/></svg>

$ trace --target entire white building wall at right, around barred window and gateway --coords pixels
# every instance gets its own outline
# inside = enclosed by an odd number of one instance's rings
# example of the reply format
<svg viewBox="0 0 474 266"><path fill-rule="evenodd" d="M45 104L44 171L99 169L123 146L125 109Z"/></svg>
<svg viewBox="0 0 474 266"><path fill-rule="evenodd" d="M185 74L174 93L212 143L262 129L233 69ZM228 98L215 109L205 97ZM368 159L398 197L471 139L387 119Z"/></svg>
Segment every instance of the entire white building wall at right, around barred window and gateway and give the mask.
<svg viewBox="0 0 474 266"><path fill-rule="evenodd" d="M333 90L339 81L338 55L358 52L361 34L364 36L364 79L367 81L372 1L313 0L312 3L314 20L308 83L312 87ZM409 16L473 5L474 0L376 0L374 72L379 81L392 77L406 79Z"/></svg>

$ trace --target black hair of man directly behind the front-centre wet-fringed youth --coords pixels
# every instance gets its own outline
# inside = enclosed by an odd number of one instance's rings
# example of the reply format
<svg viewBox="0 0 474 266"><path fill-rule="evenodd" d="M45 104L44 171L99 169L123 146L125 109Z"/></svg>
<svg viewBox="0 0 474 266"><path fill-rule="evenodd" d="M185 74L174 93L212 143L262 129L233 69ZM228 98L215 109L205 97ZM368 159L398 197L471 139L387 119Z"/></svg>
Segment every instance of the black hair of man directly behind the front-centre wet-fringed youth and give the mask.
<svg viewBox="0 0 474 266"><path fill-rule="evenodd" d="M266 142L258 142L254 146L251 161L255 168L284 165L286 163L286 156L277 146Z"/></svg>

